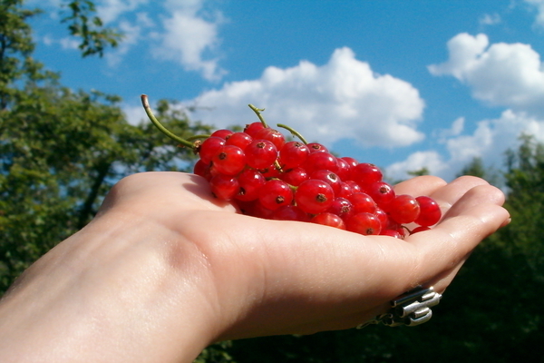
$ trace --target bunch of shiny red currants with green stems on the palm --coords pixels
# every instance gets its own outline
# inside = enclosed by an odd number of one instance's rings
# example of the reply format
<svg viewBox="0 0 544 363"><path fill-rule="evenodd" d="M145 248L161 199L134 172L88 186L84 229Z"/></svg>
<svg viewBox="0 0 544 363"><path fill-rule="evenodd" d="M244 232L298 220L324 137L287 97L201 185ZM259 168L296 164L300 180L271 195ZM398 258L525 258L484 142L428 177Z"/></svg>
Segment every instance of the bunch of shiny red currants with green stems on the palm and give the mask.
<svg viewBox="0 0 544 363"><path fill-rule="evenodd" d="M176 138L154 118L142 96L146 112L162 132ZM287 141L260 122L243 132L218 130L204 141L184 144L199 154L194 173L205 178L216 198L234 201L245 214L283 221L306 221L370 235L403 238L428 230L442 213L432 198L396 195L383 174L371 163L336 157L324 145ZM409 230L406 225L417 225Z"/></svg>

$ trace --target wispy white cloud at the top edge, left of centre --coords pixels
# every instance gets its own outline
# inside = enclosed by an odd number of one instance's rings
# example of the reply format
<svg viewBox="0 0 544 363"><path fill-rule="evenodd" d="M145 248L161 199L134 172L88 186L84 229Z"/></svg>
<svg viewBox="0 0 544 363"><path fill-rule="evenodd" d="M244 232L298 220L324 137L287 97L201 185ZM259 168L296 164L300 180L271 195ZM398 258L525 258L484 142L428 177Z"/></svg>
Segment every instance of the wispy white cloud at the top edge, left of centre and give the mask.
<svg viewBox="0 0 544 363"><path fill-rule="evenodd" d="M160 59L179 62L187 71L197 71L209 81L218 81L226 71L215 54L219 45L218 29L225 19L218 11L207 14L204 1L167 1L170 17L163 19L162 42L153 52Z"/></svg>

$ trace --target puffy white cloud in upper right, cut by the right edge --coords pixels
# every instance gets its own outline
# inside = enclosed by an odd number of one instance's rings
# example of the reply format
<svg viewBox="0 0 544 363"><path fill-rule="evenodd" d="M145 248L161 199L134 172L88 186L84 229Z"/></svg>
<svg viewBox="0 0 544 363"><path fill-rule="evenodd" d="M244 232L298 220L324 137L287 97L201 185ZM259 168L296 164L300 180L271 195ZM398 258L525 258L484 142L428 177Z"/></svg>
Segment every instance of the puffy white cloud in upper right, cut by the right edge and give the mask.
<svg viewBox="0 0 544 363"><path fill-rule="evenodd" d="M544 67L529 44L489 44L485 34L458 34L448 42L450 59L432 64L434 75L452 75L474 98L544 115Z"/></svg>

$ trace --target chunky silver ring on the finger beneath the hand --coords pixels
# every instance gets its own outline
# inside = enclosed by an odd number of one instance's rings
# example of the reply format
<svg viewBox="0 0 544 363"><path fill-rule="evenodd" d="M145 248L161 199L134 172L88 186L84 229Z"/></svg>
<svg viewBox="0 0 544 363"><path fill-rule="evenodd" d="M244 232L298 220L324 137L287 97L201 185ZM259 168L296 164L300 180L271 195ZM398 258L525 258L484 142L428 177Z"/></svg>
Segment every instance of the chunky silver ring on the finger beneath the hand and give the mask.
<svg viewBox="0 0 544 363"><path fill-rule="evenodd" d="M418 286L393 299L389 311L357 326L357 329L380 323L388 327L398 327L400 325L415 327L432 318L431 307L438 305L441 298L442 295L434 292L432 287L423 288Z"/></svg>

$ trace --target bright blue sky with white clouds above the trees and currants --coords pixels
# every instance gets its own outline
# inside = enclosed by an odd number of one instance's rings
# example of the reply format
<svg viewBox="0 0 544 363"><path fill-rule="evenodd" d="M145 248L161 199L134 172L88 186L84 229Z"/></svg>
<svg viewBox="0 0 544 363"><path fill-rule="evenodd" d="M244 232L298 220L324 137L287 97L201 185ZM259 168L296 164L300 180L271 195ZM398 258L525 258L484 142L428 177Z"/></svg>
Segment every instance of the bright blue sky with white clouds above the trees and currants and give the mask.
<svg viewBox="0 0 544 363"><path fill-rule="evenodd" d="M500 167L521 132L544 141L544 0L104 0L125 40L83 59L60 0L33 21L35 56L73 89L198 106L218 128L287 123L391 179Z"/></svg>

